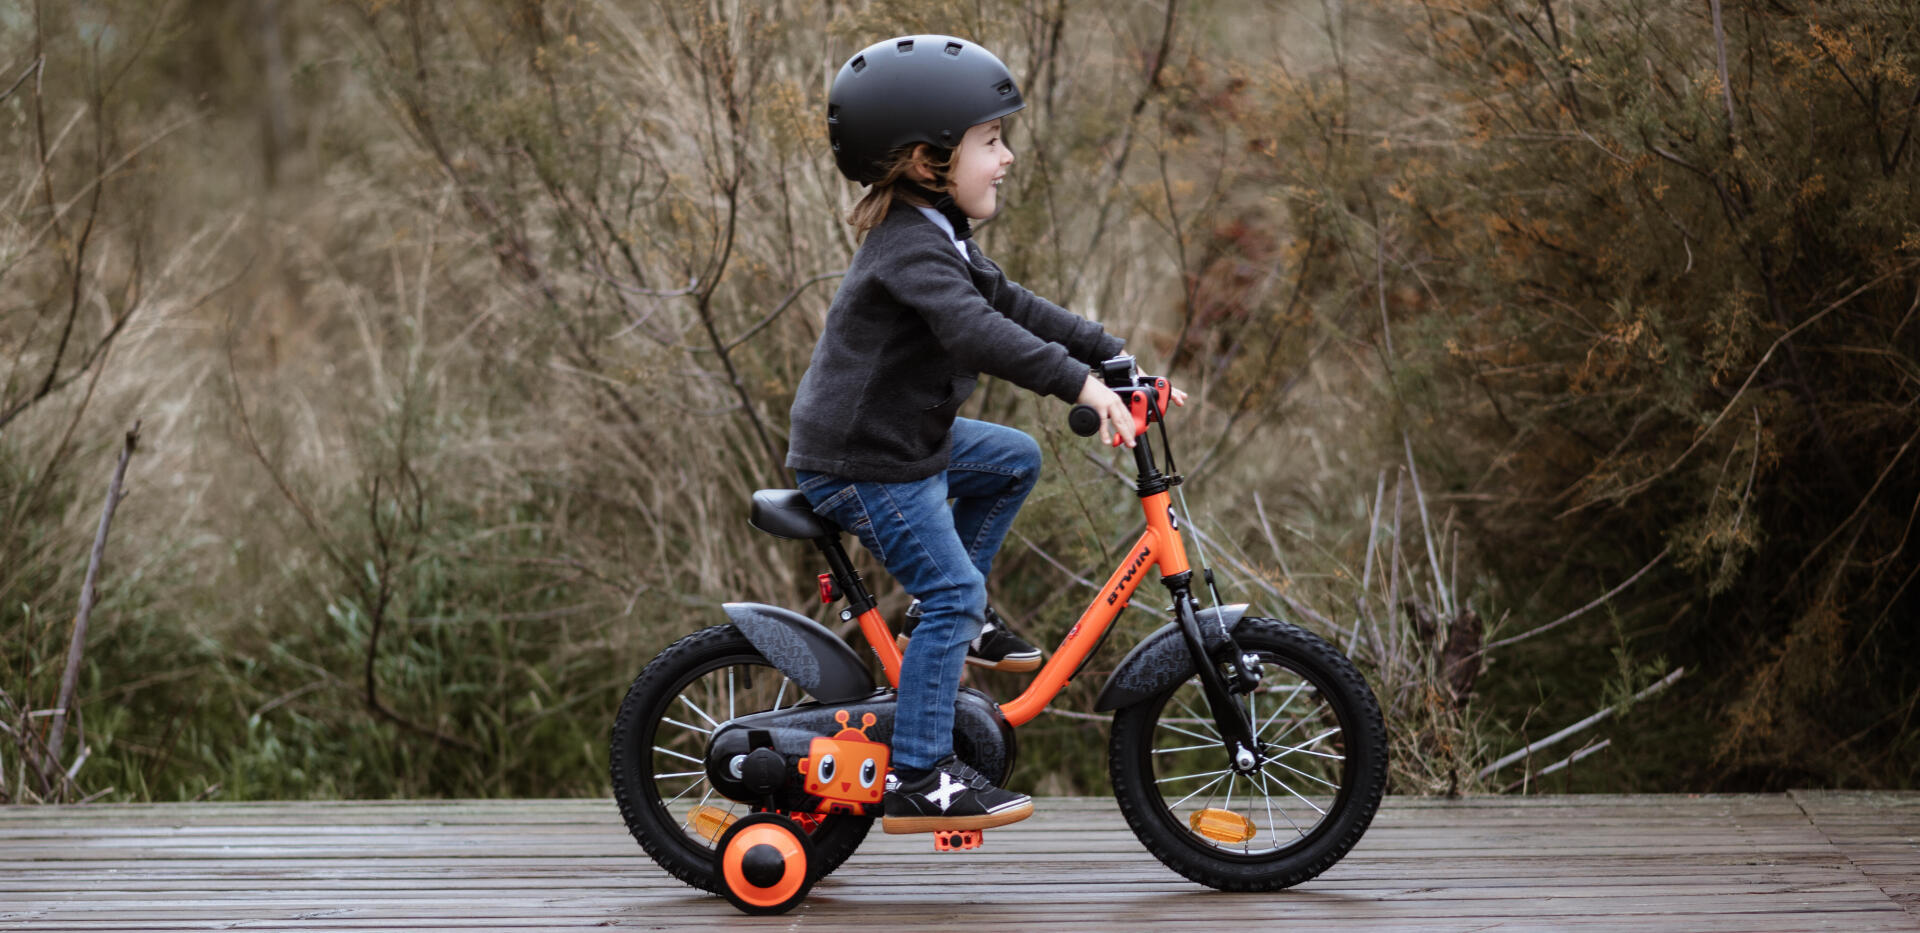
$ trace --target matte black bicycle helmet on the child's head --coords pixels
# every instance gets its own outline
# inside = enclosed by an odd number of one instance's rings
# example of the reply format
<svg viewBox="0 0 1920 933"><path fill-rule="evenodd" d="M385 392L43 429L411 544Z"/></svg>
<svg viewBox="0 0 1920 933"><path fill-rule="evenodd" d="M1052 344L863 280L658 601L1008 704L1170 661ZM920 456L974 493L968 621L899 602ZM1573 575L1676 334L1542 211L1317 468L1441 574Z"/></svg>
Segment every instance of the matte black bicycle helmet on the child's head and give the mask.
<svg viewBox="0 0 1920 933"><path fill-rule="evenodd" d="M1027 102L993 52L954 36L874 42L841 65L828 92L828 142L841 175L874 184L887 156L914 142L950 150L968 127Z"/></svg>

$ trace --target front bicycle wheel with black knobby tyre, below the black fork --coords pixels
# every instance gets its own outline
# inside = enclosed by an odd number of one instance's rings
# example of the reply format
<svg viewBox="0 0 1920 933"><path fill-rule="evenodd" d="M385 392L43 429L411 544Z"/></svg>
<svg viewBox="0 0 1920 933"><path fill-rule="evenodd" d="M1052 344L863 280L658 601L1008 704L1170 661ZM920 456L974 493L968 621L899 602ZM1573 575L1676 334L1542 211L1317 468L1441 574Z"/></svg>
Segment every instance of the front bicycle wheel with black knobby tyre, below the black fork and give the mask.
<svg viewBox="0 0 1920 933"><path fill-rule="evenodd" d="M1260 766L1233 768L1198 676L1116 712L1108 766L1119 812L1167 868L1221 891L1277 891L1332 868L1367 831L1386 791L1386 726L1354 662L1319 635L1248 618L1233 637L1263 668L1238 697Z"/></svg>

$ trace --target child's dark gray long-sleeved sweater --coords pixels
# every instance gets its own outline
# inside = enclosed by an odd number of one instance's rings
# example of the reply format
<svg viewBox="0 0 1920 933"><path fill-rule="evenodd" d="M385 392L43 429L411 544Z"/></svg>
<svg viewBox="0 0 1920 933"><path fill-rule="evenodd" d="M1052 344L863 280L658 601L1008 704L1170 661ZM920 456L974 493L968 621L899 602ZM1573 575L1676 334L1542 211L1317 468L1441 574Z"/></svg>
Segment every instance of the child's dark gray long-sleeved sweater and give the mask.
<svg viewBox="0 0 1920 933"><path fill-rule="evenodd" d="M1006 280L973 240L895 202L852 255L793 397L787 466L864 482L947 468L960 403L981 372L1079 397L1089 365L1125 342Z"/></svg>

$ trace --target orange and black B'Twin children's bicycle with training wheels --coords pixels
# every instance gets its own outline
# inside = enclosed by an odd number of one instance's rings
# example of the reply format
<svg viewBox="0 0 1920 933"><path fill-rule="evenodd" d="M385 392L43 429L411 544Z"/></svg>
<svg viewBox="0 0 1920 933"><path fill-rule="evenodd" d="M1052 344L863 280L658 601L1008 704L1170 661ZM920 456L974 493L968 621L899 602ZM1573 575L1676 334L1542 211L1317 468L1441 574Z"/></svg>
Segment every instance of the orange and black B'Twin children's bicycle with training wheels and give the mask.
<svg viewBox="0 0 1920 933"><path fill-rule="evenodd" d="M1014 766L1014 728L1039 716L1085 668L1114 618L1156 568L1173 622L1108 676L1094 706L1114 714L1108 766L1133 833L1181 875L1221 891L1275 891L1338 862L1373 822L1386 787L1386 728L1367 682L1325 639L1219 605L1212 574L1194 597L1171 490L1169 386L1133 357L1102 367L1137 432L1140 539L1020 697L962 687L954 753L995 783ZM1098 415L1075 407L1075 434ZM1160 424L1165 472L1148 442ZM634 680L612 726L612 787L634 839L674 877L749 914L778 914L839 868L879 812L900 649L841 547L841 530L795 490L753 493L751 524L812 541L826 557L820 599L879 657L887 685L826 626L799 612L726 603L728 622L682 637ZM935 849L973 849L979 831L935 831Z"/></svg>

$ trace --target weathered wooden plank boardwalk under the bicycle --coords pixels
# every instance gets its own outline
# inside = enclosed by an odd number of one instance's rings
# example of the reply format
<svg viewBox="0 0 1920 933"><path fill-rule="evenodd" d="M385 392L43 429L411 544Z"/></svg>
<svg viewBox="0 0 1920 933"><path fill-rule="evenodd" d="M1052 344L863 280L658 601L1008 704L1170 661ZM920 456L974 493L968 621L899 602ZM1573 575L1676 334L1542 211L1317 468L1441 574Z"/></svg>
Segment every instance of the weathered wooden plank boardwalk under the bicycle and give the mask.
<svg viewBox="0 0 1920 933"><path fill-rule="evenodd" d="M1392 799L1275 895L1165 870L1112 801L975 852L877 829L795 912L653 866L611 801L0 808L0 929L1338 929L1920 933L1920 793Z"/></svg>

